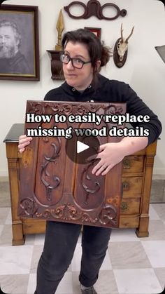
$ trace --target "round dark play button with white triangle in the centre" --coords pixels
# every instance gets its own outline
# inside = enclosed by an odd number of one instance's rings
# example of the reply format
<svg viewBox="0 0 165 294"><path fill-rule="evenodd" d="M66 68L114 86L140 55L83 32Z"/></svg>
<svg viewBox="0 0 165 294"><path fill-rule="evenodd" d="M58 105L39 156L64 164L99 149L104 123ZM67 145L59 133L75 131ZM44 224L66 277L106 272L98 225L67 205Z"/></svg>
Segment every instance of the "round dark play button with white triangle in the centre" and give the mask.
<svg viewBox="0 0 165 294"><path fill-rule="evenodd" d="M94 135L77 136L73 132L71 139L66 139L66 154L78 164L87 164L99 153L99 140Z"/></svg>

